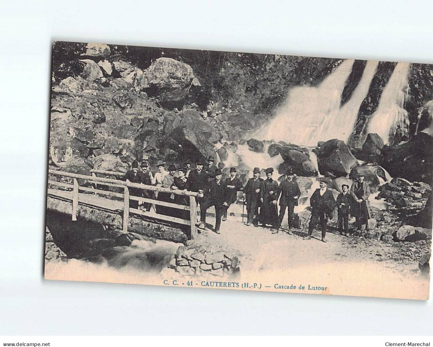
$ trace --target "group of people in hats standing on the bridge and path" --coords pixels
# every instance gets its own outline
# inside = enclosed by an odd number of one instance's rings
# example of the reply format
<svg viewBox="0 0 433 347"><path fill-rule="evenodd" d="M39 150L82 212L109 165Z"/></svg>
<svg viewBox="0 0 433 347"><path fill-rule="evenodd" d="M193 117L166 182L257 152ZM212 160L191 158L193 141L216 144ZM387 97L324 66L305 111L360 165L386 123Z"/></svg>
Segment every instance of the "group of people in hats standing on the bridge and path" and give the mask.
<svg viewBox="0 0 433 347"><path fill-rule="evenodd" d="M274 169L269 167L265 169L266 179L260 177L261 170L255 167L253 177L248 180L246 186L237 177L236 168L231 167L229 177L223 181L222 172L215 165L213 157L208 158L208 162L197 161L195 169L191 169L191 164L180 165L177 169L171 164L168 171L165 171L165 163L158 163L158 171L153 175L149 170L148 161L132 163L132 169L129 170L124 180L134 183L143 183L146 185L162 186L171 190L186 190L197 192L197 204L200 206L200 221L197 221L199 229L206 227L206 212L211 206L214 206L216 213L216 222L214 231L220 234L221 221L227 219L227 210L229 206L237 201L237 192L242 191L244 203L247 210L246 225L266 227L271 226L273 234L277 234L281 228L284 215L288 215L288 234L293 234L294 228L294 207L298 205L301 196L301 190L296 175L292 168L289 168L281 178L281 183L272 179ZM176 175L177 172L177 175ZM365 224L368 230L368 219L370 218L370 208L368 196L370 189L368 183L364 181L363 175L358 175L349 187L343 184L342 193L337 199L333 193L327 189L328 180L320 179L320 188L316 189L310 197L311 217L308 227L308 235L305 240L311 239L314 228L319 222L322 229L322 241L326 242L326 225L328 219L332 218L335 207L338 209L338 227L343 235L349 233L348 221L349 214L355 215L356 227L361 228ZM189 204L187 196L173 194L168 192L153 192L150 190L131 189L131 195L142 196L148 199L157 199L159 201L174 202L176 204ZM155 193L155 194L154 194ZM279 211L278 211L279 201ZM132 208L144 209L150 211L152 204L150 202L139 204L136 200L131 200ZM173 215L182 219L189 219L189 212L186 210L174 209L166 206L155 206L155 211L159 214Z"/></svg>

